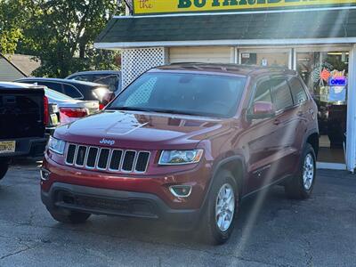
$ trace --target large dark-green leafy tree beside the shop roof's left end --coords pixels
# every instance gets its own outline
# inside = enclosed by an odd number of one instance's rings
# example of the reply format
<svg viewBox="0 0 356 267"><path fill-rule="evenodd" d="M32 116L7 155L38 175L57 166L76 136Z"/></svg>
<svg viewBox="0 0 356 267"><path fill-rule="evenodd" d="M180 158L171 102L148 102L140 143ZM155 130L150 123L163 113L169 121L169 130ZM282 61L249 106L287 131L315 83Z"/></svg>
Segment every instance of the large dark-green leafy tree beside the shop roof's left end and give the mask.
<svg viewBox="0 0 356 267"><path fill-rule="evenodd" d="M94 38L112 15L123 12L116 0L24 1L28 19L17 52L41 60L36 76L67 77L79 70L117 68L115 52L93 49Z"/></svg>

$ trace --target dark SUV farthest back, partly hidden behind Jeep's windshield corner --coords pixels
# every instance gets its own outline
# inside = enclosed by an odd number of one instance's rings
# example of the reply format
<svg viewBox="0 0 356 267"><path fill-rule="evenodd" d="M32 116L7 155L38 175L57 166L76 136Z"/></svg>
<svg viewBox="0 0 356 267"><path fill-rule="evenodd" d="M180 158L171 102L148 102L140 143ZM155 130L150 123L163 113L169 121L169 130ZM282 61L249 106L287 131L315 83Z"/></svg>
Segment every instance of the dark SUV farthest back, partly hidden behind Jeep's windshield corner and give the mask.
<svg viewBox="0 0 356 267"><path fill-rule="evenodd" d="M117 70L81 71L69 75L66 79L108 85L113 93L121 91L121 71Z"/></svg>

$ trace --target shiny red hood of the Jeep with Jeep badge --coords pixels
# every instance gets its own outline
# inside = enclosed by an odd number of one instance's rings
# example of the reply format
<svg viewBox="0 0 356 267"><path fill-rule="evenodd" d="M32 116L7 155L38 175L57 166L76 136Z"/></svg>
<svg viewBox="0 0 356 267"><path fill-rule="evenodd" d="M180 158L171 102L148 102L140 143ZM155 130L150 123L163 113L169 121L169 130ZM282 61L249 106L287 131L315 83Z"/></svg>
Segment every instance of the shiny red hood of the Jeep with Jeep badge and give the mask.
<svg viewBox="0 0 356 267"><path fill-rule="evenodd" d="M54 136L67 142L124 149L192 149L228 127L226 121L208 117L110 110L61 126Z"/></svg>

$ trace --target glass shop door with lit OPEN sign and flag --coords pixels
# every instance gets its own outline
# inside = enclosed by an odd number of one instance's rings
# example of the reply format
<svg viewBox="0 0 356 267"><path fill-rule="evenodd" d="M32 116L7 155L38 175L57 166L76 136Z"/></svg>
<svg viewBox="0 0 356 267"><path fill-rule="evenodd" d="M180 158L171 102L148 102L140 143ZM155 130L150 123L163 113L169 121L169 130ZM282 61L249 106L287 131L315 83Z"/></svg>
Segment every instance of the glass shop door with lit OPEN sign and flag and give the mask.
<svg viewBox="0 0 356 267"><path fill-rule="evenodd" d="M343 50L297 50L295 63L319 109L318 161L345 164L349 53Z"/></svg>

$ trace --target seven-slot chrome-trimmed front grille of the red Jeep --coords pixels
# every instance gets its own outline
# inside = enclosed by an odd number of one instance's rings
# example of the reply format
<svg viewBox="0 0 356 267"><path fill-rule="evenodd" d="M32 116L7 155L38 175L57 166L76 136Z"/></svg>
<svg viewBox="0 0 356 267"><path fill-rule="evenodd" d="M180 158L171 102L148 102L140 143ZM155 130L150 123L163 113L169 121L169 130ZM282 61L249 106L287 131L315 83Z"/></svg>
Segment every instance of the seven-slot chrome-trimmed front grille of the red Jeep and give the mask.
<svg viewBox="0 0 356 267"><path fill-rule="evenodd" d="M122 173L146 173L150 152L69 144L66 164Z"/></svg>

